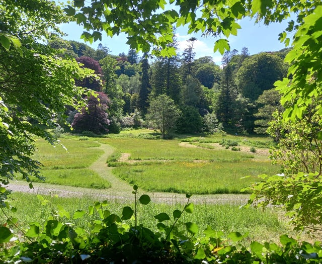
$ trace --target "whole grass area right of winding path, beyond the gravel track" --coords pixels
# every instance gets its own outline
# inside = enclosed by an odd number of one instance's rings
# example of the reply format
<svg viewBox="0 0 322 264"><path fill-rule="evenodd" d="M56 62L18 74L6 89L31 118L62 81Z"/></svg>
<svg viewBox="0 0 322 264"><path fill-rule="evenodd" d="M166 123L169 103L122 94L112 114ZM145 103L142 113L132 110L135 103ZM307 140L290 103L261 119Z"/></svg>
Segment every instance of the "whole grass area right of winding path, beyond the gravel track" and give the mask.
<svg viewBox="0 0 322 264"><path fill-rule="evenodd" d="M225 142L235 142L242 150L231 151L215 143L223 141L222 135L181 140L118 137L104 142L116 149L108 159L109 166L115 167L112 172L145 191L227 194L240 193L256 182L260 174L280 171L268 159L267 149L250 151L253 140L254 145L273 144L268 138L225 136ZM240 180L246 176L250 177Z"/></svg>

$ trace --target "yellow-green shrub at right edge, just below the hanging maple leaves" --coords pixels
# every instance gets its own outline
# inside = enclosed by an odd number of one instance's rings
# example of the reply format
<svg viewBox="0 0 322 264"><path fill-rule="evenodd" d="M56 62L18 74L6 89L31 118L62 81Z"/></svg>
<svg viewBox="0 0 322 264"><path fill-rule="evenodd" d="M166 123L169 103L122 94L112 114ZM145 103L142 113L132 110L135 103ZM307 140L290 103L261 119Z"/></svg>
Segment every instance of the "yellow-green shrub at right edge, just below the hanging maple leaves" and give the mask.
<svg viewBox="0 0 322 264"><path fill-rule="evenodd" d="M302 119L296 121L285 121L276 112L269 123L267 132L278 140L277 148L271 151L271 159L281 165L286 175L313 172L320 176L322 173L321 117L315 111L306 111Z"/></svg>

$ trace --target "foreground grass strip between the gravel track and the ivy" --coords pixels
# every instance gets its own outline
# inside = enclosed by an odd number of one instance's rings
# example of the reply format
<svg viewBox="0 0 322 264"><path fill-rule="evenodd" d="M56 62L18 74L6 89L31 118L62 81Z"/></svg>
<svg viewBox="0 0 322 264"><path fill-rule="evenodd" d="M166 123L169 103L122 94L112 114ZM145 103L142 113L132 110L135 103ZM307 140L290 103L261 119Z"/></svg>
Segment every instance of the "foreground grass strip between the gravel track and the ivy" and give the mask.
<svg viewBox="0 0 322 264"><path fill-rule="evenodd" d="M93 221L96 218L88 217L81 219L72 219L73 213L78 210L88 210L90 205L93 205L97 200L93 197L83 198L65 198L65 197L49 197L43 196L49 201L48 204L42 205L41 201L37 199L36 195L14 193L12 194L13 201L11 204L18 208L16 213L9 212L10 216L19 219L18 225L25 228L29 222L44 221L51 215L51 210L54 212L58 206L61 206L67 212L70 212L70 219L62 218L62 221L73 223L75 227L81 226L91 228ZM133 198L134 200L134 198ZM124 206L134 208L133 202L124 202L116 199L108 200L106 210L116 213L121 216ZM138 206L138 224L144 224L146 227L156 230L157 221L153 218L160 212L166 212L172 216L175 209L183 209L183 205L173 202L172 205L153 203L153 201L146 206ZM4 216L0 215L0 220L5 221ZM133 224L133 219L129 220ZM166 221L170 224L173 221ZM228 234L231 231L238 231L240 233L250 232L249 239L274 240L278 239L278 235L286 233L289 229L283 222L279 220L277 212L273 210L256 210L254 208L239 209L236 205L208 205L195 204L194 212L192 214L185 213L180 219L180 222L193 222L199 226L199 230L203 230L207 225L214 230L223 231ZM181 229L185 229L183 226ZM201 232L200 232L201 233ZM274 237L272 237L274 233ZM199 234L200 235L200 234Z"/></svg>

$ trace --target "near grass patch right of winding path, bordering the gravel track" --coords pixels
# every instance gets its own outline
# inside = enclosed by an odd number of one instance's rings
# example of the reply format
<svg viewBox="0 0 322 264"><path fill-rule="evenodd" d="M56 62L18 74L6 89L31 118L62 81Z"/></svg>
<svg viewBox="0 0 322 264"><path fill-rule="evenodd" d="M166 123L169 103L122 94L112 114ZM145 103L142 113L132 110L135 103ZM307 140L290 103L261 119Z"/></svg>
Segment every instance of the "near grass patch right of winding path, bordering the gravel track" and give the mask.
<svg viewBox="0 0 322 264"><path fill-rule="evenodd" d="M234 154L233 151L229 153ZM163 162L123 165L112 172L129 184L149 192L191 194L240 193L258 181L259 174L275 174L279 167L269 161ZM250 175L247 179L241 177Z"/></svg>

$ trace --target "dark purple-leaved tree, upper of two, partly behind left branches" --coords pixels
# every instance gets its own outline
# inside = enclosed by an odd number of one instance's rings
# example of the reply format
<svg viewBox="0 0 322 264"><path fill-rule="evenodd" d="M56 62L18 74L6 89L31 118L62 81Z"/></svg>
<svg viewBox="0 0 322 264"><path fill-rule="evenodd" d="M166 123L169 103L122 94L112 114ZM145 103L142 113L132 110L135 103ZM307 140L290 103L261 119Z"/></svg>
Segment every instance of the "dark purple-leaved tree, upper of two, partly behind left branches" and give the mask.
<svg viewBox="0 0 322 264"><path fill-rule="evenodd" d="M87 56L82 56L82 57L76 58L76 61L81 63L81 67L92 69L94 70L94 73L99 76L103 75L103 71L100 66L100 63L95 59L92 59L91 57L87 57ZM85 78L83 80L76 80L76 85L87 87L88 89L91 89L97 92L100 92L102 90L102 82L100 79L96 80L93 78Z"/></svg>

